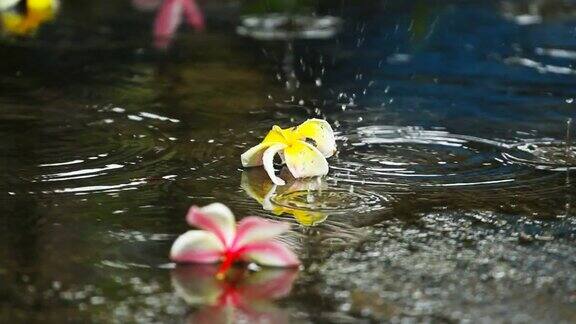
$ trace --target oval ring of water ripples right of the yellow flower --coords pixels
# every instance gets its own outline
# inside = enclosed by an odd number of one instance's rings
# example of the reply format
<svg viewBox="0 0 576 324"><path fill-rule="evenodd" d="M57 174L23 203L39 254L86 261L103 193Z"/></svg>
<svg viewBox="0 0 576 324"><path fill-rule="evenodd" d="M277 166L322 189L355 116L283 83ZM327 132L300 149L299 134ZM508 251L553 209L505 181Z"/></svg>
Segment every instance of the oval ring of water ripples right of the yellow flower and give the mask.
<svg viewBox="0 0 576 324"><path fill-rule="evenodd" d="M523 149L526 144L418 127L361 127L342 134L342 139L340 156L332 167L333 181L398 191L513 187L546 176L515 162L557 161L550 150L535 154Z"/></svg>

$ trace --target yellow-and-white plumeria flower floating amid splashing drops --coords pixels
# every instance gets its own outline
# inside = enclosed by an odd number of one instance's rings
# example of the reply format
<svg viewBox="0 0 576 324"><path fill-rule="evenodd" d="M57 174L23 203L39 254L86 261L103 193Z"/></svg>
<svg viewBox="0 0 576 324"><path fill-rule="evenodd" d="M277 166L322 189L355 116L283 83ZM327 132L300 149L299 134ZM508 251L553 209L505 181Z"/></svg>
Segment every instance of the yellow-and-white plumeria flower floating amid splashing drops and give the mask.
<svg viewBox="0 0 576 324"><path fill-rule="evenodd" d="M272 181L282 186L285 181L274 174L276 154L295 178L307 178L328 174L326 158L335 152L336 141L330 124L321 119L309 119L297 127L272 127L262 143L244 152L241 160L244 167L264 165Z"/></svg>

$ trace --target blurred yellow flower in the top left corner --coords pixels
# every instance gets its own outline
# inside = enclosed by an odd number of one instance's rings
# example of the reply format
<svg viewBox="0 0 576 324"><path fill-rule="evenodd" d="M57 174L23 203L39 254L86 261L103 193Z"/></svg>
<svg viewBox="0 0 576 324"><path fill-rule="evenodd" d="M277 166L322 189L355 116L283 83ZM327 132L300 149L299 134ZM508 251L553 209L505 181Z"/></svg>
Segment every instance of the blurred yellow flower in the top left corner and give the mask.
<svg viewBox="0 0 576 324"><path fill-rule="evenodd" d="M26 36L34 33L43 23L50 21L59 7L57 0L27 0L22 11L15 1L0 0L2 29L12 35Z"/></svg>

